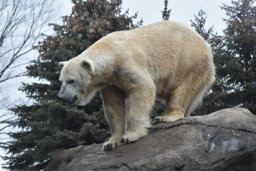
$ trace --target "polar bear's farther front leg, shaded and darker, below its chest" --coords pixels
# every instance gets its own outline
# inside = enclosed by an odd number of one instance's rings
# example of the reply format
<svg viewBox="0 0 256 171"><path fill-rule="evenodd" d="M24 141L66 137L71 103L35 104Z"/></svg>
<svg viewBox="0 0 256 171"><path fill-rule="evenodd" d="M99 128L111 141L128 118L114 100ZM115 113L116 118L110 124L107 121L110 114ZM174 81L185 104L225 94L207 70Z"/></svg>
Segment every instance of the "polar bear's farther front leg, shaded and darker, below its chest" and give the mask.
<svg viewBox="0 0 256 171"><path fill-rule="evenodd" d="M106 87L100 93L111 130L111 138L103 144L103 149L109 150L121 144L125 132L125 93L116 86Z"/></svg>

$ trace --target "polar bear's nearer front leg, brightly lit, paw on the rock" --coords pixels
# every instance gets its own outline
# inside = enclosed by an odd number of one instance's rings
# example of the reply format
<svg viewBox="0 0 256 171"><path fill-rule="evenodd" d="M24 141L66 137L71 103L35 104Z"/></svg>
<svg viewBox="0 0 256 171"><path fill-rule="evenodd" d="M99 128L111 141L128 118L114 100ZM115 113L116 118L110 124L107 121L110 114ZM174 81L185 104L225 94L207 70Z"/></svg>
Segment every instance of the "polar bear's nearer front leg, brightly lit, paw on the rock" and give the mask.
<svg viewBox="0 0 256 171"><path fill-rule="evenodd" d="M136 82L129 91L127 105L127 131L121 142L129 143L147 135L151 127L150 112L155 102L155 84L150 76L141 74L141 82Z"/></svg>

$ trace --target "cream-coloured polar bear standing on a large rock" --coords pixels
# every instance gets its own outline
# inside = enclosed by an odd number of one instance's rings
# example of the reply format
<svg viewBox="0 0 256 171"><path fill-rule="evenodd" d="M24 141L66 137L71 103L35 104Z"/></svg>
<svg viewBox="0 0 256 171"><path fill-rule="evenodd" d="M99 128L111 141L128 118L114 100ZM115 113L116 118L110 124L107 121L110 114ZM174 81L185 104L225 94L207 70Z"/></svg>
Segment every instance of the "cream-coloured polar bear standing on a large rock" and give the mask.
<svg viewBox="0 0 256 171"><path fill-rule="evenodd" d="M155 98L166 104L155 121L175 121L189 116L215 80L207 42L169 21L108 34L59 67L63 102L85 105L100 91L112 134L105 150L147 135Z"/></svg>

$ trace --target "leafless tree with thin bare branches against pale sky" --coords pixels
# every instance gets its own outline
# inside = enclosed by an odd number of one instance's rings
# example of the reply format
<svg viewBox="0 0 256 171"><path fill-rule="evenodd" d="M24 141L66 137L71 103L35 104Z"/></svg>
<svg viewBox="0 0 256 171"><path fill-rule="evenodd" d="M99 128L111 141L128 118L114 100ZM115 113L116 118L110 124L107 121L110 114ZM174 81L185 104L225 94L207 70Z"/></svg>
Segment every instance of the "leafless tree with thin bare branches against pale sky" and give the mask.
<svg viewBox="0 0 256 171"><path fill-rule="evenodd" d="M1 0L0 1L0 134L16 120L8 112L10 99L4 96L8 80L24 75L21 67L28 64L27 57L55 18L58 8L54 0ZM2 137L0 137L2 138ZM2 141L2 140L1 140ZM0 144L6 144L1 142ZM0 145L1 146L1 145Z"/></svg>

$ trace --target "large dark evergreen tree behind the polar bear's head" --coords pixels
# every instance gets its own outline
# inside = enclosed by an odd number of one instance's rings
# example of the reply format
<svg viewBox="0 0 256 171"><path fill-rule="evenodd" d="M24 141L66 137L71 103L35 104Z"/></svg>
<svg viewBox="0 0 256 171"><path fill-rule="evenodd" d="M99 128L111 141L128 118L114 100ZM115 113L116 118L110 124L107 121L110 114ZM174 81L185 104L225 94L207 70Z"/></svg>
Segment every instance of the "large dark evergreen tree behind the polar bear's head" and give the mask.
<svg viewBox="0 0 256 171"><path fill-rule="evenodd" d="M55 34L46 36L35 47L37 60L27 67L27 76L42 82L23 83L20 88L32 104L16 105L12 112L19 119L20 131L10 133L12 141L5 149L8 156L4 168L40 170L63 149L103 142L110 136L99 96L86 106L67 105L57 99L59 61L69 60L96 40L118 30L138 27L137 15L121 14L121 0L72 1L74 6L63 24L50 24Z"/></svg>

